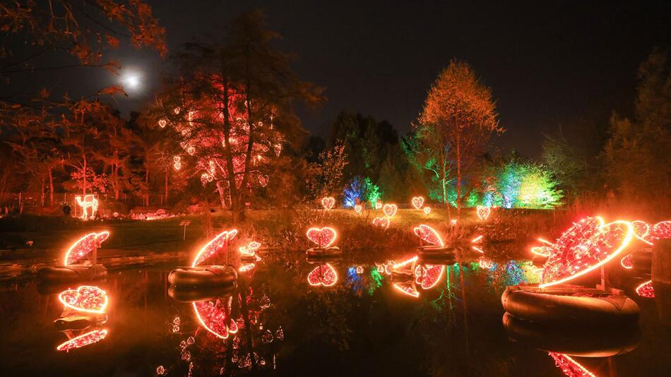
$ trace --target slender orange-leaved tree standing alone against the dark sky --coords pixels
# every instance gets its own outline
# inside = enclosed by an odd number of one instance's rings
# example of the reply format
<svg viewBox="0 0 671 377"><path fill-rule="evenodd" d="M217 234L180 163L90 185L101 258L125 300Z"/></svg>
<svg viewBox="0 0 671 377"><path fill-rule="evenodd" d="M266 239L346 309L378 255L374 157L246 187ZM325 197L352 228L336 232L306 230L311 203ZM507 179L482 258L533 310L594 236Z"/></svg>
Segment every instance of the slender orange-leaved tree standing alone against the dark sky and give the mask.
<svg viewBox="0 0 671 377"><path fill-rule="evenodd" d="M461 61L451 61L439 74L424 102L415 131L443 171L452 162L456 170L457 215L463 199L464 175L471 173L473 162L492 134L504 131L496 118L492 90L482 85L473 68Z"/></svg>

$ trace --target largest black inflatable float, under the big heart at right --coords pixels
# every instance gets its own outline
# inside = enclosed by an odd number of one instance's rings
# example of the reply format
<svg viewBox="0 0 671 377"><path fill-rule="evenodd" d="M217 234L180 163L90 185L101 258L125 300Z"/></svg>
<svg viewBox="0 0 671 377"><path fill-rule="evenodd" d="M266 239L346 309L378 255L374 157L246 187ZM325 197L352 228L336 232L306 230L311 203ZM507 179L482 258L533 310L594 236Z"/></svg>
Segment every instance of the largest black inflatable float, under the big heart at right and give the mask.
<svg viewBox="0 0 671 377"><path fill-rule="evenodd" d="M515 318L540 324L628 324L639 318L639 306L629 297L579 287L507 287L501 304Z"/></svg>

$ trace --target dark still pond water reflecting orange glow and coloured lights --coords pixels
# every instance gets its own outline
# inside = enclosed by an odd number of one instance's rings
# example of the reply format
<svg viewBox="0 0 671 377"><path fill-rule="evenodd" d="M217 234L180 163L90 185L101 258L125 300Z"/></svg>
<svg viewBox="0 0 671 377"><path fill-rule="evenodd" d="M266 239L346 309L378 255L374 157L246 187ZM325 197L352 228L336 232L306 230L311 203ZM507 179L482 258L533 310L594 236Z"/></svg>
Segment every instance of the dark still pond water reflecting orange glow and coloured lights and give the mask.
<svg viewBox="0 0 671 377"><path fill-rule="evenodd" d="M511 339L501 322L506 285L538 278L529 261L451 265L435 287L417 287L419 297L412 297L384 272L386 261L407 255L345 253L332 263L331 286L309 284L318 265L304 254L263 255L239 274L234 292L220 294L239 328L226 339L203 328L194 304L168 294L174 265L112 270L95 283L109 305L106 321L93 329L107 335L69 352L57 346L92 328L54 325L64 288L5 284L0 369L4 376L564 376L552 349ZM596 376L669 376L670 328L660 323L655 299L637 297L631 288L638 280L630 279L623 288L641 307L640 330L622 340L614 329L597 340L628 352L572 359ZM562 342L571 346L571 339Z"/></svg>

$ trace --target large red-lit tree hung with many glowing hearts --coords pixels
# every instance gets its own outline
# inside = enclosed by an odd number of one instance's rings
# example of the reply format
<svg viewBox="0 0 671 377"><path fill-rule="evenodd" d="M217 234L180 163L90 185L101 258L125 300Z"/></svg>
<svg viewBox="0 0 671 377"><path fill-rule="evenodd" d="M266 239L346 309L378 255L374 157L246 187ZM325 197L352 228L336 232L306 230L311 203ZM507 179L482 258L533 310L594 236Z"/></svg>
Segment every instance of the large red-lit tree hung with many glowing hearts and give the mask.
<svg viewBox="0 0 671 377"><path fill-rule="evenodd" d="M277 37L256 11L233 20L223 42L185 44L176 57L181 75L157 107L156 124L174 131L182 147L174 168L214 186L236 221L251 194L273 179L284 146L302 136L295 102L322 100L273 47Z"/></svg>

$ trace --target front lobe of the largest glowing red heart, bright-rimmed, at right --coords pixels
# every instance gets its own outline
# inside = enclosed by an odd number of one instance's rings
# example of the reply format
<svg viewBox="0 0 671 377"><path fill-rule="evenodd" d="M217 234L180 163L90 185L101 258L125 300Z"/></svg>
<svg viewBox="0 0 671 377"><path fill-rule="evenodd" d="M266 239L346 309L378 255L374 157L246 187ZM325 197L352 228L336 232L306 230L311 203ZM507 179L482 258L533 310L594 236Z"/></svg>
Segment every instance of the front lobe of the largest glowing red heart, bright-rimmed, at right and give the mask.
<svg viewBox="0 0 671 377"><path fill-rule="evenodd" d="M568 282L605 265L624 250L632 238L631 222L618 220L600 227L577 246L555 249L543 268L540 287Z"/></svg>

